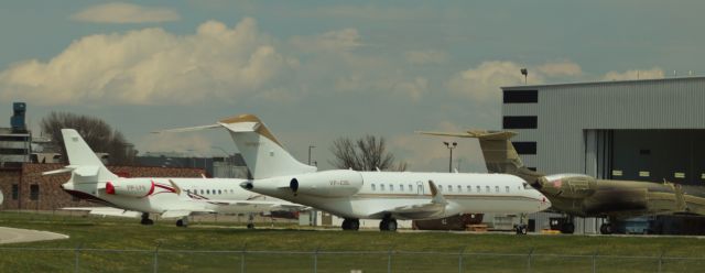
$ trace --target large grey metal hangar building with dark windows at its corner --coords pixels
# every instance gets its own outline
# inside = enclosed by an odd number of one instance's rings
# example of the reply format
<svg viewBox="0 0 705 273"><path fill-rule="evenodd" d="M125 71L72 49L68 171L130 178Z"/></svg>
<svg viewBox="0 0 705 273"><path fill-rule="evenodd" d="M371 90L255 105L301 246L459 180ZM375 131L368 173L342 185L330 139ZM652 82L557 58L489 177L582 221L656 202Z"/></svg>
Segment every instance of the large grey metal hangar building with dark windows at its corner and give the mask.
<svg viewBox="0 0 705 273"><path fill-rule="evenodd" d="M528 167L705 186L705 77L501 89L502 128L519 133ZM547 226L541 215L536 228ZM596 232L597 221L576 220L576 231Z"/></svg>

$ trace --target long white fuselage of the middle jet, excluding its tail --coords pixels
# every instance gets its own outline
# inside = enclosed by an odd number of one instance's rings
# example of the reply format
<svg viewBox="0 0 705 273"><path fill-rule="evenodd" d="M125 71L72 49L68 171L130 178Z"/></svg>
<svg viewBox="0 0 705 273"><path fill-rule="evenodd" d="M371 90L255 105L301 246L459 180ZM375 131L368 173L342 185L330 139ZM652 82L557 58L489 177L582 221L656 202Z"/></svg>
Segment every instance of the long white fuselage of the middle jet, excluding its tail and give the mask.
<svg viewBox="0 0 705 273"><path fill-rule="evenodd" d="M297 179L296 194L290 186L293 178ZM440 188L447 204L441 210L414 211L414 207L423 207L433 198L429 181ZM356 219L386 216L437 219L470 212L529 214L551 206L545 196L521 178L505 174L336 170L257 179L251 186L252 192ZM401 208L408 208L406 212L384 212L403 210Z"/></svg>

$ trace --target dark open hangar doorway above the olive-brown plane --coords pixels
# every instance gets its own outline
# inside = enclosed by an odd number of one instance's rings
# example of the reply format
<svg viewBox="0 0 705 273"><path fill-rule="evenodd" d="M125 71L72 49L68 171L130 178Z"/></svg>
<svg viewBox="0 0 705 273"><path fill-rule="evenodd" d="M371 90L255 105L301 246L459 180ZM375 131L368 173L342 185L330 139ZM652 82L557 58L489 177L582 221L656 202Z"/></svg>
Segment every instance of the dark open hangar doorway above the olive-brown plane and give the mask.
<svg viewBox="0 0 705 273"><path fill-rule="evenodd" d="M596 177L705 185L705 130L586 130L585 141Z"/></svg>

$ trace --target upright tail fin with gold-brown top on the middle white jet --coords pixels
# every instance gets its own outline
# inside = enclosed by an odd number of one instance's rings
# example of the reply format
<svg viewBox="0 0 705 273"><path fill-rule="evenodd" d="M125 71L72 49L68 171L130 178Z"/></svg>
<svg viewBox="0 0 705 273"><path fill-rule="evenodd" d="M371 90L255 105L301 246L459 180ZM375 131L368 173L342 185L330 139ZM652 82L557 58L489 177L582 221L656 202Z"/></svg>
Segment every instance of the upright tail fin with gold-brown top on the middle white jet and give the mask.
<svg viewBox="0 0 705 273"><path fill-rule="evenodd" d="M315 166L303 164L286 152L257 116L240 114L223 119L218 124L230 132L252 178L316 172Z"/></svg>

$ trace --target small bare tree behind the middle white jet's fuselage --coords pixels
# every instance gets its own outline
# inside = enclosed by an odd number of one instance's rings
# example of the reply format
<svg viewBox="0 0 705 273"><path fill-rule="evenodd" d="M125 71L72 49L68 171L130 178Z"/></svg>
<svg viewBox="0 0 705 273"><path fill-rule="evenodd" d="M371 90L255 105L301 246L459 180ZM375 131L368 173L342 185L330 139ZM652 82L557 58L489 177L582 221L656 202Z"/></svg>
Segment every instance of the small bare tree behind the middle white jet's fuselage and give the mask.
<svg viewBox="0 0 705 273"><path fill-rule="evenodd" d="M408 164L400 162L394 165L394 155L387 152L384 138L365 135L356 141L348 138L338 138L333 141L330 152L335 155L329 163L338 168L352 168L356 171L391 170L403 172Z"/></svg>

